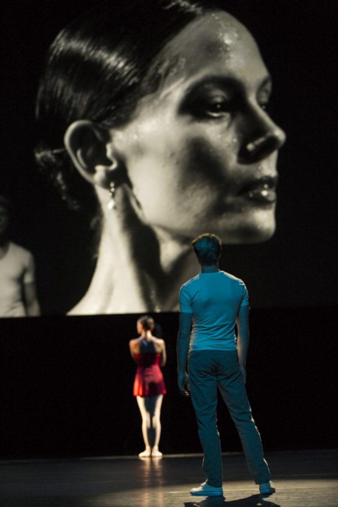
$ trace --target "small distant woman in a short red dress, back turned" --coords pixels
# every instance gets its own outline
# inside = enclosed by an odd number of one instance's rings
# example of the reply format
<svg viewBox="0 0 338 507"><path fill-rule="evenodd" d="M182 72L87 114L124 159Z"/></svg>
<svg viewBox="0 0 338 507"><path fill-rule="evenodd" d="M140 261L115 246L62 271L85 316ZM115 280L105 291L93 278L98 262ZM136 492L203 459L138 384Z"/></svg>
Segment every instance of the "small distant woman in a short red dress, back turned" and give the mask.
<svg viewBox="0 0 338 507"><path fill-rule="evenodd" d="M160 367L166 364L166 346L164 340L152 335L154 325L152 317L140 317L136 329L141 336L129 342L131 356L137 364L133 394L142 416L145 444L145 450L139 453L140 458L162 456L159 451L160 413L166 387Z"/></svg>

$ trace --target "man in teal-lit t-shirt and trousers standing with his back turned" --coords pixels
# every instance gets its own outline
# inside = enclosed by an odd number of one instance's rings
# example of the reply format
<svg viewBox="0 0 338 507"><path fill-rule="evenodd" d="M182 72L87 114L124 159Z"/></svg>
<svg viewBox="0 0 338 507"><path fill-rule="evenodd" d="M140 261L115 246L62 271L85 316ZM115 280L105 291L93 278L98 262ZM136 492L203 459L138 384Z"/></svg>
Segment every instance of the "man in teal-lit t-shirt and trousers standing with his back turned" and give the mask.
<svg viewBox="0 0 338 507"><path fill-rule="evenodd" d="M260 493L273 493L274 484L270 481L270 470L245 389L249 344L247 289L242 280L218 269L221 241L217 236L202 234L192 244L201 273L180 288L178 388L183 395L190 394L192 398L204 452L206 481L190 493L223 495L216 420L217 387L236 425L249 471Z"/></svg>

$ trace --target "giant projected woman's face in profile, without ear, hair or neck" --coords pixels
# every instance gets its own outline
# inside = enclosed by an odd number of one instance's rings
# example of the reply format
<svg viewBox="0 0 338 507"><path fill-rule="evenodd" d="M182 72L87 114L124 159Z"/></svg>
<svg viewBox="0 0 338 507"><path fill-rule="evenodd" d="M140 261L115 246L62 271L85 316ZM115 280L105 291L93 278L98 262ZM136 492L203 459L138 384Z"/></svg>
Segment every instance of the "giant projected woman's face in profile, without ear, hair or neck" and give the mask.
<svg viewBox="0 0 338 507"><path fill-rule="evenodd" d="M275 230L271 79L250 33L222 11L183 28L160 54L162 83L111 130L145 220L170 234L259 242Z"/></svg>

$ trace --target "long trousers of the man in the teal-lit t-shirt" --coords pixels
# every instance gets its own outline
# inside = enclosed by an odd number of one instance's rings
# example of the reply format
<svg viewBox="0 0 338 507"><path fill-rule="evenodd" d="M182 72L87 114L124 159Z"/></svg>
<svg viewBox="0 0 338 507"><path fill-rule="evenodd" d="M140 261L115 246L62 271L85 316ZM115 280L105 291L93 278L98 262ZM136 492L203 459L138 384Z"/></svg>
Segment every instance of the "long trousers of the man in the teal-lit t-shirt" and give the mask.
<svg viewBox="0 0 338 507"><path fill-rule="evenodd" d="M252 418L237 351L196 350L189 354L191 399L203 447L203 471L209 486L222 485L222 457L217 429L217 387L239 433L250 474L256 484L270 480L260 435Z"/></svg>

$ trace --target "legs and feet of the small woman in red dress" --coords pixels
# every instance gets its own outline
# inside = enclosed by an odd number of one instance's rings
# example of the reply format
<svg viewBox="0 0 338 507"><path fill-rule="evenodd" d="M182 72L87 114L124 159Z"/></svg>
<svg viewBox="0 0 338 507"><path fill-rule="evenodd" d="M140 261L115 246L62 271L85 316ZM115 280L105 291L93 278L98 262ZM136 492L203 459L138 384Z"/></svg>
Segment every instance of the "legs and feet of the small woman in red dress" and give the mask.
<svg viewBox="0 0 338 507"><path fill-rule="evenodd" d="M161 406L163 394L157 396L136 396L138 408L142 417L142 435L145 450L139 453L140 458L149 456L162 456L159 451L159 442L161 437Z"/></svg>

